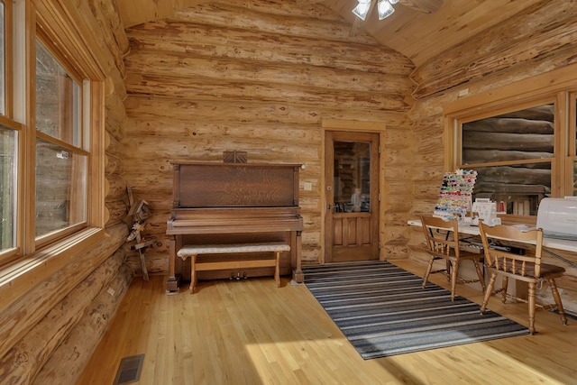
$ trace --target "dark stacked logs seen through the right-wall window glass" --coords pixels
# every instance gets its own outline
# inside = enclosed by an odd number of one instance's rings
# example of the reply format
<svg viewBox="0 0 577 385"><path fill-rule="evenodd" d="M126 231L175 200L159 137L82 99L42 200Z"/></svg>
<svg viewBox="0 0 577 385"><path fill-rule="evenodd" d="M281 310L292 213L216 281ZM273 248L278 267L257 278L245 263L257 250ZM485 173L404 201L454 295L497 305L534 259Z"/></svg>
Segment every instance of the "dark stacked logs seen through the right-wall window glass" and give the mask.
<svg viewBox="0 0 577 385"><path fill-rule="evenodd" d="M551 193L554 104L463 124L463 169L479 173L473 200L489 197L498 210L536 215Z"/></svg>

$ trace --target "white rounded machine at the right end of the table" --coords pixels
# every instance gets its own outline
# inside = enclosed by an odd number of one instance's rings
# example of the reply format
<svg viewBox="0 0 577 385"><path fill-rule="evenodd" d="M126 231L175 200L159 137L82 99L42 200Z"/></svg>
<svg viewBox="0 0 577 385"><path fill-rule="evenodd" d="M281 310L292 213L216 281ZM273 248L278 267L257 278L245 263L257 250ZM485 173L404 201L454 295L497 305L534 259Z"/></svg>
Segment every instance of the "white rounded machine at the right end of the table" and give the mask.
<svg viewBox="0 0 577 385"><path fill-rule="evenodd" d="M543 198L536 225L546 237L577 241L577 197Z"/></svg>

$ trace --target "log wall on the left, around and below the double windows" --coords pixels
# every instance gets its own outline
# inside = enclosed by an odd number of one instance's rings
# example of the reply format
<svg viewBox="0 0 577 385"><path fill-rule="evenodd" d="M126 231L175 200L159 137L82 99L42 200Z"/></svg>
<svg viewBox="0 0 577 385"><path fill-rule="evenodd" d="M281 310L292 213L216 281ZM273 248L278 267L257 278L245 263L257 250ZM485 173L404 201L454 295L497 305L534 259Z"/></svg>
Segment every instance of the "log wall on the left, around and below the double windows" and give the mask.
<svg viewBox="0 0 577 385"><path fill-rule="evenodd" d="M44 1L44 0L43 0ZM48 0L50 1L50 0ZM124 53L128 39L114 0L59 1L106 70L105 241L56 273L35 277L22 296L0 307L0 382L76 382L133 279L124 262L128 227L123 177ZM42 4L42 3L39 3ZM60 9L59 7L57 7ZM111 293L114 293L111 294Z"/></svg>

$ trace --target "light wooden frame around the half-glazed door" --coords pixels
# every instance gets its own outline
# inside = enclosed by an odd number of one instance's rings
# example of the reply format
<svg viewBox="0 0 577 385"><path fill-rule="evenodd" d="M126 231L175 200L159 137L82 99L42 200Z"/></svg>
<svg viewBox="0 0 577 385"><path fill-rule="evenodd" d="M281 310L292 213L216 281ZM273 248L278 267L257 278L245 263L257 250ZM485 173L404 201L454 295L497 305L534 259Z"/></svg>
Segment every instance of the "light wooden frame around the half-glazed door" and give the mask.
<svg viewBox="0 0 577 385"><path fill-rule="evenodd" d="M350 133L379 133L379 260L385 260L384 241L385 241L385 213L382 210L385 191L385 129L384 122L368 122L355 120L337 120L337 119L323 119L321 122L321 187L323 188L321 194L321 258L320 263L325 264L325 216L326 216L326 187L325 180L325 131L344 131ZM332 185L331 181L331 185Z"/></svg>

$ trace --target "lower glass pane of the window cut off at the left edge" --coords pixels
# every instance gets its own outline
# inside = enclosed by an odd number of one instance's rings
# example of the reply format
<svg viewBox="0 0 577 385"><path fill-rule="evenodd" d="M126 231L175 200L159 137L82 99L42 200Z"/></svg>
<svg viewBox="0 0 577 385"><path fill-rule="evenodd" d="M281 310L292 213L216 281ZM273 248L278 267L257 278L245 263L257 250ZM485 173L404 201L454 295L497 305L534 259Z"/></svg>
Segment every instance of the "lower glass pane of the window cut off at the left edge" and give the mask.
<svg viewBox="0 0 577 385"><path fill-rule="evenodd" d="M14 247L16 133L0 126L0 252Z"/></svg>

